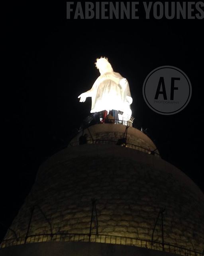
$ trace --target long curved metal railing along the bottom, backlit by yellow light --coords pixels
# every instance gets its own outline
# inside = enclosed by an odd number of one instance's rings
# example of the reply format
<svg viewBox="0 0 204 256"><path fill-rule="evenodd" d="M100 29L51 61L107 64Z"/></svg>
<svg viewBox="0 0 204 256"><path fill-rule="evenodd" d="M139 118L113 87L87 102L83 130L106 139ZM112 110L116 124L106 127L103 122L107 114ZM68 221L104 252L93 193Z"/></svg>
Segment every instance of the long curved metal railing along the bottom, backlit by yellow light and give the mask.
<svg viewBox="0 0 204 256"><path fill-rule="evenodd" d="M172 244L163 244L162 242L151 242L151 240L123 237L123 236L112 236L105 234L69 234L69 233L56 233L56 234L37 234L29 235L26 239L27 243L36 242L96 242L106 244L118 244L137 246L141 248L147 248L152 250L159 250L164 252L171 252L183 256L203 256L203 252L196 252L194 250L186 249ZM25 244L25 237L11 238L3 240L0 244L0 248L8 246L15 246L19 244Z"/></svg>

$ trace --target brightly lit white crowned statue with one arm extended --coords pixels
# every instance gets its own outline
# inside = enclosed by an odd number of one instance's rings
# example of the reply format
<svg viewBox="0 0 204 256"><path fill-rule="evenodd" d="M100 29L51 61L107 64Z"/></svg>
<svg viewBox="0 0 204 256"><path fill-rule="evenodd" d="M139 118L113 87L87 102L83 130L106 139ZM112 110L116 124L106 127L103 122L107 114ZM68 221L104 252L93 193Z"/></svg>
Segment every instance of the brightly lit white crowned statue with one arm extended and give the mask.
<svg viewBox="0 0 204 256"><path fill-rule="evenodd" d="M127 79L113 71L107 58L101 57L96 60L95 64L100 76L90 90L78 96L80 102L84 102L86 97L92 97L91 113L102 110L107 110L107 112L120 110L124 112L122 118L129 120L132 98Z"/></svg>

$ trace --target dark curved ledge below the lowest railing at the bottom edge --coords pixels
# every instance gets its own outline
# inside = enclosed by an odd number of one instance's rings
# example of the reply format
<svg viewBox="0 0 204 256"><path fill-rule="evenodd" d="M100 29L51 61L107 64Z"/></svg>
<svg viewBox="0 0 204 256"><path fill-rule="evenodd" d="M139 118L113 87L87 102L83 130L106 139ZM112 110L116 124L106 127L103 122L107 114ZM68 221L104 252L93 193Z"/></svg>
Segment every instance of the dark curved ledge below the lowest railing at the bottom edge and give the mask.
<svg viewBox="0 0 204 256"><path fill-rule="evenodd" d="M41 242L0 249L0 256L175 256L135 246L92 242Z"/></svg>

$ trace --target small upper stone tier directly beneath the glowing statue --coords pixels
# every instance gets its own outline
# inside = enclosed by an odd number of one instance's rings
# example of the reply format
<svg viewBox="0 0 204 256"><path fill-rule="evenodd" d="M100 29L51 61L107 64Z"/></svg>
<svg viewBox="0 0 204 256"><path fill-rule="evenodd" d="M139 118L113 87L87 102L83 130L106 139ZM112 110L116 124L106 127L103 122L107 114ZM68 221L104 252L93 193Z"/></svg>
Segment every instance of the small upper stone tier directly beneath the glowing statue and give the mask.
<svg viewBox="0 0 204 256"><path fill-rule="evenodd" d="M124 146L160 157L152 140L140 130L133 128L131 122L94 124L81 130L69 143L70 146L80 144L110 144Z"/></svg>

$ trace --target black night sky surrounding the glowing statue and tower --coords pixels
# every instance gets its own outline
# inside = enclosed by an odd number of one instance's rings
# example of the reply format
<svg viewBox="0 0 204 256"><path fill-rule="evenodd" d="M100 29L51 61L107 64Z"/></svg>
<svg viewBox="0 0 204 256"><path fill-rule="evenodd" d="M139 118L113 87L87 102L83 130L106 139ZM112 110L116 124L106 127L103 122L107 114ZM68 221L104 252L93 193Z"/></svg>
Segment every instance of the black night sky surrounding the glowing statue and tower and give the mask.
<svg viewBox="0 0 204 256"><path fill-rule="evenodd" d="M2 98L1 222L10 226L41 162L69 142L89 114L77 96L99 75L107 56L129 81L137 127L149 129L161 156L202 189L203 20L66 20L66 2L13 6L6 36ZM192 98L178 114L153 112L143 100L147 74L159 66L183 70ZM1 228L4 236L6 228Z"/></svg>

